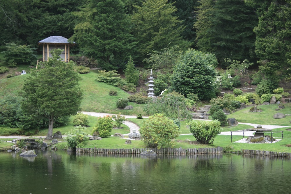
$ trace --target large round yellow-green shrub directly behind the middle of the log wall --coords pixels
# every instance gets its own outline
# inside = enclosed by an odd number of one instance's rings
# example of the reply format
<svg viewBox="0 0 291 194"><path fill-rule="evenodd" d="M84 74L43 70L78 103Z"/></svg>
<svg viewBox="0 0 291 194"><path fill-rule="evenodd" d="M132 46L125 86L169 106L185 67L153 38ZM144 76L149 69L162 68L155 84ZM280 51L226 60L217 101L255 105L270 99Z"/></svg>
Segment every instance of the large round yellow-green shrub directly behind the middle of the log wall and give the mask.
<svg viewBox="0 0 291 194"><path fill-rule="evenodd" d="M146 147L162 148L175 146L179 136L179 127L164 114L155 114L142 122L139 132Z"/></svg>

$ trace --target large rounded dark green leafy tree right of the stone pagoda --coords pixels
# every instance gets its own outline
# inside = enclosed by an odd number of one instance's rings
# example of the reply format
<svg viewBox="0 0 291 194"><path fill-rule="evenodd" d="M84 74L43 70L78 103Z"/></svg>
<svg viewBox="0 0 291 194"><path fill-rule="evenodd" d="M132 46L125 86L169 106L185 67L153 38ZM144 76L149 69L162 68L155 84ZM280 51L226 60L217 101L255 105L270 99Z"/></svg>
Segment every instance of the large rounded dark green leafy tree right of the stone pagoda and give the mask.
<svg viewBox="0 0 291 194"><path fill-rule="evenodd" d="M183 95L197 94L200 100L213 98L217 63L214 55L189 49L175 65L171 88Z"/></svg>

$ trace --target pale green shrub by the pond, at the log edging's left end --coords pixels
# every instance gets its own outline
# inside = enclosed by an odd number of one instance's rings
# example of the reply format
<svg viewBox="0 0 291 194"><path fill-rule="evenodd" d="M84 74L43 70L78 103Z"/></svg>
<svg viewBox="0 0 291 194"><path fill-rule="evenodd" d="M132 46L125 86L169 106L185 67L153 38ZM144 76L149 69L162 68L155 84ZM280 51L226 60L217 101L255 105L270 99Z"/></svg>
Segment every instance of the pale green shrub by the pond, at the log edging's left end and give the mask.
<svg viewBox="0 0 291 194"><path fill-rule="evenodd" d="M68 147L82 147L82 142L88 136L88 134L84 132L85 129L86 127L76 126L75 129L71 129L71 131L66 133L67 136L64 137L64 140L67 141Z"/></svg>

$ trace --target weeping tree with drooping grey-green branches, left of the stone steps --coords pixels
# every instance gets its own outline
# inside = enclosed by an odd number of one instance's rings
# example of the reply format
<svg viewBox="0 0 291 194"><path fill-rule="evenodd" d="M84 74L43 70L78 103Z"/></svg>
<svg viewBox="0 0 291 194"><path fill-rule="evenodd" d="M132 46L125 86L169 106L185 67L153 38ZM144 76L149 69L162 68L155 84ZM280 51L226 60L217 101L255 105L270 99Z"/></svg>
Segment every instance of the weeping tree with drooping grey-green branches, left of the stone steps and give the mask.
<svg viewBox="0 0 291 194"><path fill-rule="evenodd" d="M192 115L187 108L193 105L194 102L186 99L184 95L178 92L171 92L153 97L152 100L145 105L144 111L149 115L164 113L164 115L169 118L191 119Z"/></svg>

